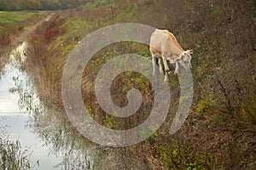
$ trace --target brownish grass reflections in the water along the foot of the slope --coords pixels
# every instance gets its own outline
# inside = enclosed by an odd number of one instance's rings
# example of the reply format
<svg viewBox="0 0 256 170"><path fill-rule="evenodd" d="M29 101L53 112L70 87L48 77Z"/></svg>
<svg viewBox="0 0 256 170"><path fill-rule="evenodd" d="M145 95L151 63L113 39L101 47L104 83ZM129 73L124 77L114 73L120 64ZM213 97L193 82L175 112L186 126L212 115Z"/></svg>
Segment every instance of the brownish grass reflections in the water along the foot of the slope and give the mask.
<svg viewBox="0 0 256 170"><path fill-rule="evenodd" d="M14 59L19 59L19 55L15 55ZM85 150L88 149L88 144L67 123L67 117L61 116L39 101L29 78L26 80L24 77L14 77L13 81L15 87L11 88L10 91L20 96L18 101L20 109L31 113L26 126L30 127L33 133L37 133L45 145L51 147L52 144L53 149L49 152L60 160L56 162L55 167L61 169L78 169L77 167L84 169L84 167L88 167L85 169L89 169L92 166L91 158L84 154ZM62 123L65 124L64 127Z"/></svg>

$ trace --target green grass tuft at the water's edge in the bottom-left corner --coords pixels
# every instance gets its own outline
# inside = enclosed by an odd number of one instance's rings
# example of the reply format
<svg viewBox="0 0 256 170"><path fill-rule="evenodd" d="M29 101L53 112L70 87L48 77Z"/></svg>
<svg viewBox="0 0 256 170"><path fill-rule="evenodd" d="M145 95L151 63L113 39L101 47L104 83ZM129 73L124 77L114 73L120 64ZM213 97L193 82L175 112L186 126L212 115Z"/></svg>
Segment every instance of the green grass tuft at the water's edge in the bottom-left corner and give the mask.
<svg viewBox="0 0 256 170"><path fill-rule="evenodd" d="M0 168L1 169L32 169L27 151L21 151L20 142L0 138ZM38 162L39 166L39 162Z"/></svg>

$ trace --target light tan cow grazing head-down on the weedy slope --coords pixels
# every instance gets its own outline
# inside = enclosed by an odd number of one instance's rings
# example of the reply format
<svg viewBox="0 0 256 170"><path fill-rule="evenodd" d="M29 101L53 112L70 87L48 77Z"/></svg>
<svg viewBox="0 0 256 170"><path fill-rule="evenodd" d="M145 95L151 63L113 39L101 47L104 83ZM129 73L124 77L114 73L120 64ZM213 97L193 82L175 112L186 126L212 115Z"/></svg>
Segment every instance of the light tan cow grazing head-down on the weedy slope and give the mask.
<svg viewBox="0 0 256 170"><path fill-rule="evenodd" d="M193 54L193 50L183 50L177 42L176 37L170 31L155 29L150 37L149 50L152 54L153 74L155 73L157 59L160 72L163 72L162 62L164 63L166 73L165 82L168 82L167 73L169 66L167 60L171 64L176 64L175 75L178 73L178 64L182 65L185 70L192 68L191 54Z"/></svg>

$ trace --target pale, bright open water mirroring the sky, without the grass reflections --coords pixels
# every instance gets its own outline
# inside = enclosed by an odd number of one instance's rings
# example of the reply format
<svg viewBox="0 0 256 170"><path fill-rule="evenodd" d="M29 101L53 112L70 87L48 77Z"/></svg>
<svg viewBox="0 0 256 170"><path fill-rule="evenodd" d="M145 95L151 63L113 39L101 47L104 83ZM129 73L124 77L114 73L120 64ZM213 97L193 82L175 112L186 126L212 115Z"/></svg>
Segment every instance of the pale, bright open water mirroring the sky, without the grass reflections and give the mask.
<svg viewBox="0 0 256 170"><path fill-rule="evenodd" d="M40 167L37 169L53 169L58 162L58 156L51 154L51 144L45 144L38 138L38 134L28 126L32 115L28 114L29 105L22 102L30 102L26 99L29 96L34 104L39 104L35 89L32 88L25 71L20 71L21 62L26 58L24 49L26 42L13 50L9 56L9 62L4 66L0 79L0 126L5 128L5 134L10 140L20 141L21 150L30 150L32 165L36 165L39 160ZM17 83L19 82L19 83ZM22 96L20 96L19 92ZM23 106L22 106L23 105ZM0 136L0 137L1 137Z"/></svg>

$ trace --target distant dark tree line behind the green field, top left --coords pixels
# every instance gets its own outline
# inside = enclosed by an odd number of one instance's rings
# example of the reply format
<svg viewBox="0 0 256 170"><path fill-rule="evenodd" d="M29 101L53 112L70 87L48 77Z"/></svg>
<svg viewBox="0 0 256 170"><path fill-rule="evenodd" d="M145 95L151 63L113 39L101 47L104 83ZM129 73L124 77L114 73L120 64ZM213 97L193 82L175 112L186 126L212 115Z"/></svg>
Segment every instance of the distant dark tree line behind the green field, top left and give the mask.
<svg viewBox="0 0 256 170"><path fill-rule="evenodd" d="M0 10L55 10L108 2L109 0L0 0Z"/></svg>

